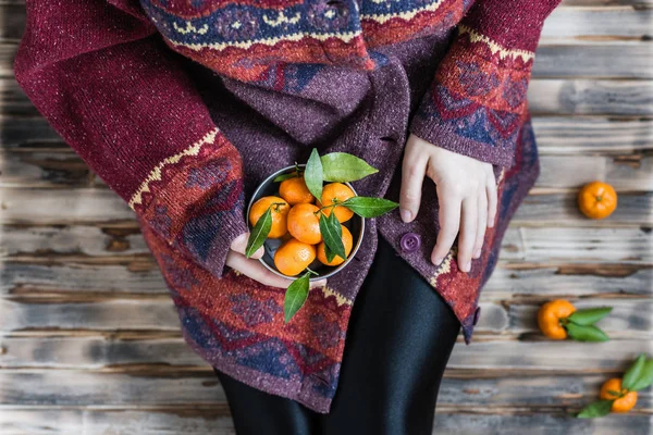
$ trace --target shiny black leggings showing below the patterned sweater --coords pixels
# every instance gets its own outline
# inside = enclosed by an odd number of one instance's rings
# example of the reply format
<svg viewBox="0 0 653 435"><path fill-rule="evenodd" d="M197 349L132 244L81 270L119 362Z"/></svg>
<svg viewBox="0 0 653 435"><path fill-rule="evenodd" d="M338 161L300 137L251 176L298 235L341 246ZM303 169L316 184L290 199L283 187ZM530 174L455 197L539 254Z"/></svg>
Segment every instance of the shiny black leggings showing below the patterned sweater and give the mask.
<svg viewBox="0 0 653 435"><path fill-rule="evenodd" d="M459 330L442 297L380 237L329 414L215 373L238 435L427 435Z"/></svg>

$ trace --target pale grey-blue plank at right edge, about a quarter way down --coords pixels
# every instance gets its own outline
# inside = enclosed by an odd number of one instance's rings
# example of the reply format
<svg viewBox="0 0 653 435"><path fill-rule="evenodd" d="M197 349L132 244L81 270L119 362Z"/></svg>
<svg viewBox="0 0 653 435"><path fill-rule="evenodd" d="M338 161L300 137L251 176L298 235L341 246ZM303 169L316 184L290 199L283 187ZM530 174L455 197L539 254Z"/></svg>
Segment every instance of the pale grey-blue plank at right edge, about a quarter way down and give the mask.
<svg viewBox="0 0 653 435"><path fill-rule="evenodd" d="M534 114L653 114L653 82L532 79L528 89Z"/></svg>

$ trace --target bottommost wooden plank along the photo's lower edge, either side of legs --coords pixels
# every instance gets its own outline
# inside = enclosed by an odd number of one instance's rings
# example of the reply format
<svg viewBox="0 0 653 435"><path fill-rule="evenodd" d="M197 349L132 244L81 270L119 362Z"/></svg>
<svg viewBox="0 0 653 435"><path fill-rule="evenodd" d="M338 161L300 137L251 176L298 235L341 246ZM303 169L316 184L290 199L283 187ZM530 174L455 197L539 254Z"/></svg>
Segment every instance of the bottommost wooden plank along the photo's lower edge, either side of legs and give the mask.
<svg viewBox="0 0 653 435"><path fill-rule="evenodd" d="M444 407L443 407L444 408ZM642 435L653 415L613 414L606 419L572 419L565 411L531 414L520 409L459 413L438 408L433 435ZM3 435L235 435L229 415L213 408L192 410L100 410L24 408L0 411Z"/></svg>

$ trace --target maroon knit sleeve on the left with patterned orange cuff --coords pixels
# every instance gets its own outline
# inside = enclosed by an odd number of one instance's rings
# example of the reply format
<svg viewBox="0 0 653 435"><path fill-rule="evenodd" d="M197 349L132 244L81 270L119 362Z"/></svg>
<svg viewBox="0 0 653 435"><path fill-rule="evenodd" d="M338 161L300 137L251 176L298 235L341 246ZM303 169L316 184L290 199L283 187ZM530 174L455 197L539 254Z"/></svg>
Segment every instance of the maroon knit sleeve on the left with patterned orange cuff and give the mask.
<svg viewBox="0 0 653 435"><path fill-rule="evenodd" d="M220 277L247 231L237 150L137 0L27 0L15 77L141 224Z"/></svg>

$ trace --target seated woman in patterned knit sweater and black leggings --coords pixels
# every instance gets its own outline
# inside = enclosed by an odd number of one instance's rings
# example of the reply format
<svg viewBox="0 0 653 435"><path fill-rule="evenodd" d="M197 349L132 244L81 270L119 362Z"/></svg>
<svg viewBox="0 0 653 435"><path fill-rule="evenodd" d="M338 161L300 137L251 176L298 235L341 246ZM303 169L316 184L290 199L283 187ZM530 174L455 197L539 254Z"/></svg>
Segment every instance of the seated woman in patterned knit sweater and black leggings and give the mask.
<svg viewBox="0 0 653 435"><path fill-rule="evenodd" d="M27 0L15 73L136 212L239 434L427 434L538 176L526 90L557 2ZM312 148L378 167L356 189L401 212L286 325L244 211Z"/></svg>

